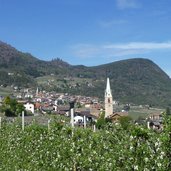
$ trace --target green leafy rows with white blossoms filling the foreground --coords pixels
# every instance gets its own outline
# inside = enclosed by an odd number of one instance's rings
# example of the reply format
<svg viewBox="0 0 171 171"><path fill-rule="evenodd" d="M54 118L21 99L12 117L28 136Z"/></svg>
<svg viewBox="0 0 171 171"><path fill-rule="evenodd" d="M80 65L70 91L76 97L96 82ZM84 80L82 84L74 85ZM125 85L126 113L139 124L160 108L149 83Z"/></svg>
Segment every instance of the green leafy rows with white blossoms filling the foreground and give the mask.
<svg viewBox="0 0 171 171"><path fill-rule="evenodd" d="M18 122L0 129L2 171L169 171L171 170L171 119L164 131L137 125L123 129L71 128L53 122L30 124L24 131Z"/></svg>

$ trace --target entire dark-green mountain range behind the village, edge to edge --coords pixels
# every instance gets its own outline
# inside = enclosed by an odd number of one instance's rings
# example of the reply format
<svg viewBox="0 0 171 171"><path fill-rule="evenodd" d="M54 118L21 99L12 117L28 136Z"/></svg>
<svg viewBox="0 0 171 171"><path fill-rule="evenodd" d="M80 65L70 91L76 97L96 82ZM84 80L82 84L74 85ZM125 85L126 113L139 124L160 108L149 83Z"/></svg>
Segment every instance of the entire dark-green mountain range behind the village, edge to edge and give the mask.
<svg viewBox="0 0 171 171"><path fill-rule="evenodd" d="M124 103L171 106L171 79L148 59L86 67L59 58L43 61L0 42L0 84L104 97L106 77L113 98Z"/></svg>

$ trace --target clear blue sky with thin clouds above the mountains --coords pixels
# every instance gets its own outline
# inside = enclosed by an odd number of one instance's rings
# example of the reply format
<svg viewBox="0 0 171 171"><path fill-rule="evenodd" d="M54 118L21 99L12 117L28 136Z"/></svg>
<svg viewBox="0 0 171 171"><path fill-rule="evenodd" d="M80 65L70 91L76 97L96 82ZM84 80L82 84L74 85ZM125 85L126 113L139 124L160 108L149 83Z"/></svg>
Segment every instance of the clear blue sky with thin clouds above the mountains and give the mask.
<svg viewBox="0 0 171 171"><path fill-rule="evenodd" d="M148 58L171 76L171 0L0 0L0 40L41 60Z"/></svg>

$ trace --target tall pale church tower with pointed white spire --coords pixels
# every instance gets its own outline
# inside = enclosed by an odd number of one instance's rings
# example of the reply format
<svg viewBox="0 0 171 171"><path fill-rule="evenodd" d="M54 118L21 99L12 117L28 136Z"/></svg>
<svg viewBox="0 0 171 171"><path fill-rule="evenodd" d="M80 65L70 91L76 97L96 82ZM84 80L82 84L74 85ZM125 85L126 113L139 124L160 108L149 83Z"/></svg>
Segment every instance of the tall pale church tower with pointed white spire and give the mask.
<svg viewBox="0 0 171 171"><path fill-rule="evenodd" d="M110 81L107 78L106 90L105 90L105 118L113 114L113 98L110 89Z"/></svg>

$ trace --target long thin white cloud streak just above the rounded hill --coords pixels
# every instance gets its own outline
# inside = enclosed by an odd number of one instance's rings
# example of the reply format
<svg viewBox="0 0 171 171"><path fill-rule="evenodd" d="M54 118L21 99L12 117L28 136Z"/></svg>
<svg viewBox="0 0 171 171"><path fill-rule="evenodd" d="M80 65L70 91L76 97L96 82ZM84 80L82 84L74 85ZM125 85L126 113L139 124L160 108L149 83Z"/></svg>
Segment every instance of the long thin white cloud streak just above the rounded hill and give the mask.
<svg viewBox="0 0 171 171"><path fill-rule="evenodd" d="M140 55L157 50L171 50L171 42L130 42L123 44L78 44L72 46L71 53L77 58L106 58L126 55Z"/></svg>

